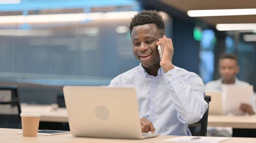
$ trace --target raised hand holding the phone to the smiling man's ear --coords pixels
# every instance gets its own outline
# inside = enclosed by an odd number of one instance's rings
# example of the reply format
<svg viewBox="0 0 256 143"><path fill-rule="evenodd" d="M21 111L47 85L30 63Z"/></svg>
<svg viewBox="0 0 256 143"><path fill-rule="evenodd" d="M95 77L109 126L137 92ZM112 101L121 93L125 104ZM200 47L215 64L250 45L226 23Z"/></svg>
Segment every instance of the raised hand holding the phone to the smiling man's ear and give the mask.
<svg viewBox="0 0 256 143"><path fill-rule="evenodd" d="M174 66L172 64L172 56L174 53L172 39L169 39L166 37L166 35L164 35L163 38L158 39L158 42L156 44L157 46L163 46L163 54L160 66L163 68L163 71L167 73L169 70L174 69Z"/></svg>

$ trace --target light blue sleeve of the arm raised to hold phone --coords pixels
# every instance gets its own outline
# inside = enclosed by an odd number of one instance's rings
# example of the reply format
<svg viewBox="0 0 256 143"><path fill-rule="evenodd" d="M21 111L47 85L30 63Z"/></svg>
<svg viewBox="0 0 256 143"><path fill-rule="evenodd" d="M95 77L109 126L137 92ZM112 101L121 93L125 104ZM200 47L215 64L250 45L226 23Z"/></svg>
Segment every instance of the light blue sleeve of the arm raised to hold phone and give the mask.
<svg viewBox="0 0 256 143"><path fill-rule="evenodd" d="M181 123L196 123L201 120L208 108L204 100L204 83L195 73L182 73L172 69L164 74L169 96L177 110ZM175 94L173 94L175 93Z"/></svg>

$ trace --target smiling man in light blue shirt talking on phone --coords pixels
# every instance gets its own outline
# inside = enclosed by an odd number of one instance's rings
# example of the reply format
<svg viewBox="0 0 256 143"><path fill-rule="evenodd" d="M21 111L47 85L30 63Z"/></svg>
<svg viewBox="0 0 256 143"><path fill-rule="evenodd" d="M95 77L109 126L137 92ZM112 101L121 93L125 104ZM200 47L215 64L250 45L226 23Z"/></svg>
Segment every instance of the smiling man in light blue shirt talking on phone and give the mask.
<svg viewBox="0 0 256 143"><path fill-rule="evenodd" d="M142 132L191 135L188 125L200 121L208 108L203 81L173 65L172 39L166 37L165 23L157 11L135 15L129 28L140 65L116 76L109 86L136 89ZM159 45L164 48L161 60Z"/></svg>

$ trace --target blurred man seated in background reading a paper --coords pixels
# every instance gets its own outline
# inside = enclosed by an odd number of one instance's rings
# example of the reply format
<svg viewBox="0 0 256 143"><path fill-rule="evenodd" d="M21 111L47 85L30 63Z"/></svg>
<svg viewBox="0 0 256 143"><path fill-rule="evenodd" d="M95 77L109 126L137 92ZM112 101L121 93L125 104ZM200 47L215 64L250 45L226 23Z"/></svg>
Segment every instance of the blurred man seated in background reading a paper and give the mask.
<svg viewBox="0 0 256 143"><path fill-rule="evenodd" d="M221 92L221 85L228 84L228 85L235 85L235 86L250 86L249 83L240 81L236 75L239 73L239 65L238 59L236 55L232 53L224 53L221 55L219 59L219 73L221 75L221 79L216 81L209 81L205 84L205 91L206 92ZM241 95L242 98L242 95ZM254 114L255 109L255 100L254 94L251 97L251 104L241 104L240 109L249 114ZM232 136L232 128L231 127L208 127L207 134L209 136L224 136L224 137L231 137Z"/></svg>

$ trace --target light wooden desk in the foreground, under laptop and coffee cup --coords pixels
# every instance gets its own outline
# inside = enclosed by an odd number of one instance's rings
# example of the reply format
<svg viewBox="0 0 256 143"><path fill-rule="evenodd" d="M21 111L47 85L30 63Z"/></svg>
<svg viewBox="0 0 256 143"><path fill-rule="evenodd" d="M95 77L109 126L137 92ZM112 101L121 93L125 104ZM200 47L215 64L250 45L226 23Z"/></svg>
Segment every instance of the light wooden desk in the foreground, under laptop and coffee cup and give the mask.
<svg viewBox="0 0 256 143"><path fill-rule="evenodd" d="M17 132L20 129L0 129L1 141L3 143L168 143L163 142L175 136L159 136L143 140L128 140L128 139L106 139L106 138L89 138L89 137L73 137L67 135L54 135L38 137L23 137ZM180 142L179 142L180 143ZM232 138L221 143L256 143L256 138Z"/></svg>

